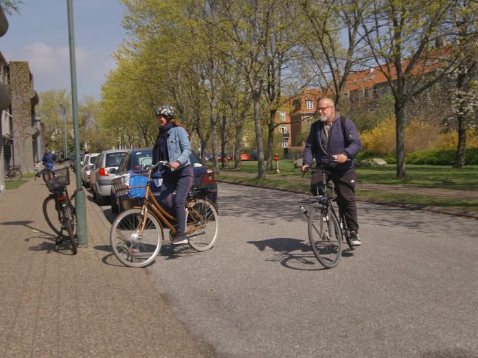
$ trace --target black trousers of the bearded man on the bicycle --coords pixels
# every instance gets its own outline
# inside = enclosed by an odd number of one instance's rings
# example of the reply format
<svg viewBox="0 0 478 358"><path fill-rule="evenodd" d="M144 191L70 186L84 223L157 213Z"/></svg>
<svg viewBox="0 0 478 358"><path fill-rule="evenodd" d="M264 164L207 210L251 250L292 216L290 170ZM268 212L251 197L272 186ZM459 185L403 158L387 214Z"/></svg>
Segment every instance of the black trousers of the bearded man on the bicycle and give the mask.
<svg viewBox="0 0 478 358"><path fill-rule="evenodd" d="M310 191L312 195L319 195L317 189L321 187L323 182L323 169L315 169L310 182ZM355 171L327 171L326 182L332 180L337 189L337 204L339 204L348 229L358 231L357 206L355 203L355 186L357 183L357 175Z"/></svg>

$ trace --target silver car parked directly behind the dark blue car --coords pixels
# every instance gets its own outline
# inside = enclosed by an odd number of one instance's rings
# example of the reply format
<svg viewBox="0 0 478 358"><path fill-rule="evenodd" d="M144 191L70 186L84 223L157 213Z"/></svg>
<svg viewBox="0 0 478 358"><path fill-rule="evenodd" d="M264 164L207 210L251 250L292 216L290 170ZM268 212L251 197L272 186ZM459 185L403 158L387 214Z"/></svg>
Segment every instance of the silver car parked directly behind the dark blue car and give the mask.
<svg viewBox="0 0 478 358"><path fill-rule="evenodd" d="M95 160L95 167L90 174L90 187L98 205L104 204L104 197L111 195L111 169L118 169L127 150L104 150Z"/></svg>

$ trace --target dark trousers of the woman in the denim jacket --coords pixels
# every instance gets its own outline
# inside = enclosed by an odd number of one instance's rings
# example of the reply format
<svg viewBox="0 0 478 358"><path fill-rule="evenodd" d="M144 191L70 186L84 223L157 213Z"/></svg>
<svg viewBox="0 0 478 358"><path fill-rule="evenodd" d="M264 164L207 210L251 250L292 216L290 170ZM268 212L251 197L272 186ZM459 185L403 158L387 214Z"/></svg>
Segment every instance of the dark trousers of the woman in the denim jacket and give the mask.
<svg viewBox="0 0 478 358"><path fill-rule="evenodd" d="M174 171L165 170L163 173L163 184L161 184L161 193L159 194L159 204L164 208L170 208L170 211L175 214L178 222L177 236L185 235L186 230L186 208L185 202L187 193L192 187L192 180L194 174L192 167L187 165L181 169ZM174 195L174 203L172 202L172 193ZM174 210L173 210L174 209Z"/></svg>

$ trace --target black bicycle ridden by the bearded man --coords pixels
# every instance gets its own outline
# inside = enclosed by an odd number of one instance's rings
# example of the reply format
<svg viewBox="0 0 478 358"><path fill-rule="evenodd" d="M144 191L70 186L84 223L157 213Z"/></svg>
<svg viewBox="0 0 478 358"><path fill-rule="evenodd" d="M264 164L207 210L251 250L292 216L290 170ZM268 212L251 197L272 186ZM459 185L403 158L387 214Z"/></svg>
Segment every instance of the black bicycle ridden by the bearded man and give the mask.
<svg viewBox="0 0 478 358"><path fill-rule="evenodd" d="M318 195L312 196L310 193L308 199L301 200L297 204L308 218L308 237L315 257L323 267L332 268L339 263L343 241L348 244L350 250L354 250L355 246L350 242L350 230L337 204L334 184L332 181L326 182L326 169L323 166L318 169L322 173L322 182L317 186L318 192L315 193Z"/></svg>

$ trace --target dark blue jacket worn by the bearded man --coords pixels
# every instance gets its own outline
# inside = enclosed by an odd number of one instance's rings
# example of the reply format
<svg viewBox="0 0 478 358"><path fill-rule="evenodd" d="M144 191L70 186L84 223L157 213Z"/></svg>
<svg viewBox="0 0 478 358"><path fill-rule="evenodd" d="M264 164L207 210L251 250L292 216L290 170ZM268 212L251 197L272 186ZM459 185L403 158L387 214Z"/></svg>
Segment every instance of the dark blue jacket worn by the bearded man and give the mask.
<svg viewBox="0 0 478 358"><path fill-rule="evenodd" d="M312 165L312 158L315 157L317 165L327 165L330 169L337 171L347 171L354 167L354 157L362 149L360 136L358 136L357 128L351 119L345 118L345 135L341 125L341 116L337 114L335 120L330 127L328 148L324 148L321 141L321 132L325 126L324 122L316 121L310 127L310 133L306 141L304 156L302 163L304 165ZM331 162L330 156L333 154L345 154L352 159L343 164Z"/></svg>

